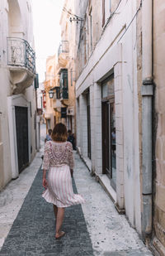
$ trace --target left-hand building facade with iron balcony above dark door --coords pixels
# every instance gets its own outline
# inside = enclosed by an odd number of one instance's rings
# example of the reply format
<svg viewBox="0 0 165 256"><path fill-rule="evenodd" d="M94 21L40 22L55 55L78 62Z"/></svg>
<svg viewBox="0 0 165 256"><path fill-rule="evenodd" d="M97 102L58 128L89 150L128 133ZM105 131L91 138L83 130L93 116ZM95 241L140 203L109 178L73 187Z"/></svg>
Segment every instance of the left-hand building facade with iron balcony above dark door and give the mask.
<svg viewBox="0 0 165 256"><path fill-rule="evenodd" d="M31 1L0 2L0 189L35 157L35 51Z"/></svg>

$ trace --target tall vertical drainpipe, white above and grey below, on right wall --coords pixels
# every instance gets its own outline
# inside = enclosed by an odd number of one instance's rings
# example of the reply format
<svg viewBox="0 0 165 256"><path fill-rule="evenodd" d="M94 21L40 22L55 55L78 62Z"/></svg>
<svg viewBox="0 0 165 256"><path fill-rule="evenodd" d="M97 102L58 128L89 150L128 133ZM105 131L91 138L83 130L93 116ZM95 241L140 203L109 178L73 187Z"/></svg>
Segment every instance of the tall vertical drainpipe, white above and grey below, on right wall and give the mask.
<svg viewBox="0 0 165 256"><path fill-rule="evenodd" d="M142 237L152 233L153 1L142 2Z"/></svg>

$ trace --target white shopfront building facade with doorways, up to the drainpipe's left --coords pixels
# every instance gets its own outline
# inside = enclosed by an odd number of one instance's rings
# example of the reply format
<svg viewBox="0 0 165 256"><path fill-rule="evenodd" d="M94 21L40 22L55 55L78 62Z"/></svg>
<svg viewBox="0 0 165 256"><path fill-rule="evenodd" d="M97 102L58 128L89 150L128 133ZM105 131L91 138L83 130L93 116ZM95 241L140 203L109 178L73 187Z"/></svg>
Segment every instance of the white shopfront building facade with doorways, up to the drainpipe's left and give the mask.
<svg viewBox="0 0 165 256"><path fill-rule="evenodd" d="M138 4L82 2L75 2L76 14L83 19L76 31L79 151L117 209L126 211L140 231L136 21L126 30Z"/></svg>

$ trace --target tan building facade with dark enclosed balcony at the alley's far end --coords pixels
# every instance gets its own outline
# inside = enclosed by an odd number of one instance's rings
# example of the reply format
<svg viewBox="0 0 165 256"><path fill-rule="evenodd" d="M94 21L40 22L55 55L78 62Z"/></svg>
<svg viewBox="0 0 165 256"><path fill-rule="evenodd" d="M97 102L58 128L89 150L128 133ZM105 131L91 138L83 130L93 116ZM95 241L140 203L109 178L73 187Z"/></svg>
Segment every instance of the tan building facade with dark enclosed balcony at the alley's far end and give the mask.
<svg viewBox="0 0 165 256"><path fill-rule="evenodd" d="M73 1L64 1L64 8L59 22L61 27L61 42L59 44L57 70L59 74L59 86L62 89L61 104L66 113L63 120L67 128L72 133L75 133L75 24L72 26L69 20L69 12L73 8ZM66 94L65 92L67 91L68 93Z"/></svg>

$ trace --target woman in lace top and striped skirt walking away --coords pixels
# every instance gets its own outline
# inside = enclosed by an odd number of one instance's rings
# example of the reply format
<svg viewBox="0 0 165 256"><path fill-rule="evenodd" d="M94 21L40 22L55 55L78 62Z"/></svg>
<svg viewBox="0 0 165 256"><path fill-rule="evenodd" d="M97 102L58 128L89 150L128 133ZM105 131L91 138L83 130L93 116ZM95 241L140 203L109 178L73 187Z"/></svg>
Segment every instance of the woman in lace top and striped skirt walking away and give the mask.
<svg viewBox="0 0 165 256"><path fill-rule="evenodd" d="M57 123L51 135L52 141L45 143L43 162L43 181L45 191L42 196L54 205L56 219L55 238L64 236L61 226L64 220L64 208L84 203L81 195L73 194L73 146L67 142L67 128L63 123ZM49 171L48 171L49 170ZM46 171L48 176L46 179Z"/></svg>

